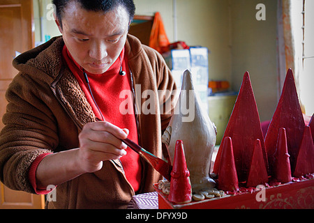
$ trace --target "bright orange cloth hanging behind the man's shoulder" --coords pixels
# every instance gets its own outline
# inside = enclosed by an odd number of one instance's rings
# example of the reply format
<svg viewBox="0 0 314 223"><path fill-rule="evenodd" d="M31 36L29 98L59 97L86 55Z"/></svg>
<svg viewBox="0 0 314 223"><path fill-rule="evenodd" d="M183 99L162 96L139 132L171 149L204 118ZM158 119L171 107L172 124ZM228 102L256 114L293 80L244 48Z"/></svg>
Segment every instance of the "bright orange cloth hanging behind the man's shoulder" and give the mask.
<svg viewBox="0 0 314 223"><path fill-rule="evenodd" d="M149 38L149 47L156 49L160 54L168 51L170 42L165 32L165 26L161 19L160 13L156 13L154 17L153 27L151 28L151 36Z"/></svg>

